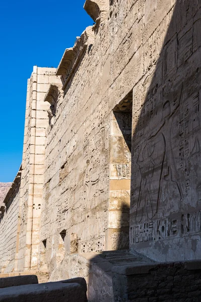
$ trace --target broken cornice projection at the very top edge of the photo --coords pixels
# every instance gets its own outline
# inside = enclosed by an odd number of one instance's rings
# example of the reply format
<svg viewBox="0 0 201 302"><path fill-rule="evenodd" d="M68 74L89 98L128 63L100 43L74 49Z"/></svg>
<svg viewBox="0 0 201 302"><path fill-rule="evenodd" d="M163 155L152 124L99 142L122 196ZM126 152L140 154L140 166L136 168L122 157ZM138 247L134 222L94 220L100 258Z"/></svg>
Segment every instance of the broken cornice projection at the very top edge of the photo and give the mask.
<svg viewBox="0 0 201 302"><path fill-rule="evenodd" d="M104 21L109 12L109 0L86 0L84 9L94 22Z"/></svg>

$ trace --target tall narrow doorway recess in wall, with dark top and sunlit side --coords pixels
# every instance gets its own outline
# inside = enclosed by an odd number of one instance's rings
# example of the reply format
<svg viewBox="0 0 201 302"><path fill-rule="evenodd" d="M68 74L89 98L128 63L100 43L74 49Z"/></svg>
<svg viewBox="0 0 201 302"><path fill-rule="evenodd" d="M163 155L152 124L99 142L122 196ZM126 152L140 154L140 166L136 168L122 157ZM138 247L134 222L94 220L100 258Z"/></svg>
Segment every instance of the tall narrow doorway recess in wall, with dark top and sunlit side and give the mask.
<svg viewBox="0 0 201 302"><path fill-rule="evenodd" d="M112 217L115 225L110 232L108 249L127 249L129 246L129 207L132 143L132 91L114 108L111 120L110 187ZM114 201L117 207L114 211ZM110 203L111 202L111 203ZM109 236L109 237L110 237ZM115 238L115 239L114 239Z"/></svg>

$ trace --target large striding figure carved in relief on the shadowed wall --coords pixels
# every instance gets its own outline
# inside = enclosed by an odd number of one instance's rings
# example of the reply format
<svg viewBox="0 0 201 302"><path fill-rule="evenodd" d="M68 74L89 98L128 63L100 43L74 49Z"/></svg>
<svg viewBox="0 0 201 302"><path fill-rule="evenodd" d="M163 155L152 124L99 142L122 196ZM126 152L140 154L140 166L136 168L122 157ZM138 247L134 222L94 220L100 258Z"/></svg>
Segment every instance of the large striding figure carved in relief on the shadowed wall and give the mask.
<svg viewBox="0 0 201 302"><path fill-rule="evenodd" d="M171 103L168 99L165 100L161 122L148 134L147 143L138 157L141 182L136 210L137 223L152 219L158 213L164 181L169 182L170 189L174 188L180 201L183 200L183 188L176 169L171 142L172 124L179 110L182 88L177 94L176 101L172 96L173 94L169 95Z"/></svg>

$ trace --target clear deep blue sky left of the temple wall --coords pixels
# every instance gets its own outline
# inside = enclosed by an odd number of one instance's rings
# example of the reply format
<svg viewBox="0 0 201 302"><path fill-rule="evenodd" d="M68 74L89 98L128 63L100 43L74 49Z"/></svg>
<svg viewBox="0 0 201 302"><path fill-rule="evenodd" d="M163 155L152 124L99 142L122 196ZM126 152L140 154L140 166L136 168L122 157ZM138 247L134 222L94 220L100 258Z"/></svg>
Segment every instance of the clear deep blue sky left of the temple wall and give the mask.
<svg viewBox="0 0 201 302"><path fill-rule="evenodd" d="M33 65L57 67L65 48L93 25L84 0L0 2L0 182L22 161L27 79Z"/></svg>

